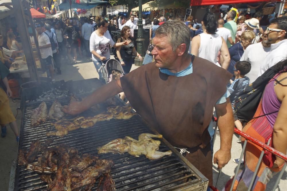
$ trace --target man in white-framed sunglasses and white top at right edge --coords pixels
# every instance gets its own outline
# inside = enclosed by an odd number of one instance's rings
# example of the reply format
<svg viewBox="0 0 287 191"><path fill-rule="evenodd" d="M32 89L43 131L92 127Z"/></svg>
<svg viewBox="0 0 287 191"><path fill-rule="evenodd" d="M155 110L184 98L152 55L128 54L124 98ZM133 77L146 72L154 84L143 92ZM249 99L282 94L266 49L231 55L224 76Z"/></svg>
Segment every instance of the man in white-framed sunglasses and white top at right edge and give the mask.
<svg viewBox="0 0 287 191"><path fill-rule="evenodd" d="M273 19L267 27L266 33L271 49L261 65L258 76L287 58L287 17Z"/></svg>

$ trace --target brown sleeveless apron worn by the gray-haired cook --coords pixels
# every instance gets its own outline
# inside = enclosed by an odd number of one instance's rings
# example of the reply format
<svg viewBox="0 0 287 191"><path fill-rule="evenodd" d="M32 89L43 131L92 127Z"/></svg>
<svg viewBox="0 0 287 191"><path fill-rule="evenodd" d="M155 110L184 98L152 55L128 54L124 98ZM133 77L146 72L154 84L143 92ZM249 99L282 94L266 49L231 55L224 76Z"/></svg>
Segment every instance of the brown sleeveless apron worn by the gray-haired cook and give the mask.
<svg viewBox="0 0 287 191"><path fill-rule="evenodd" d="M121 85L137 113L168 142L193 150L186 158L212 184L207 127L231 74L199 57L192 63L192 74L177 77L163 74L153 62L123 76Z"/></svg>

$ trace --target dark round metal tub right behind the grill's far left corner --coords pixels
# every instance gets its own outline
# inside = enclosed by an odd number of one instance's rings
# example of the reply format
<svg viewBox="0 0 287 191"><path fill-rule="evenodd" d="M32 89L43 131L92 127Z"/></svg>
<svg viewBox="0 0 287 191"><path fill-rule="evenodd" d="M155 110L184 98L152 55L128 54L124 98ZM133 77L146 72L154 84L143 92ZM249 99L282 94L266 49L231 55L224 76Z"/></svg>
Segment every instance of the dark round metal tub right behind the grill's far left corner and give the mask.
<svg viewBox="0 0 287 191"><path fill-rule="evenodd" d="M24 101L36 100L44 91L48 91L51 88L51 83L40 81L26 82L21 85L22 96L25 96Z"/></svg>

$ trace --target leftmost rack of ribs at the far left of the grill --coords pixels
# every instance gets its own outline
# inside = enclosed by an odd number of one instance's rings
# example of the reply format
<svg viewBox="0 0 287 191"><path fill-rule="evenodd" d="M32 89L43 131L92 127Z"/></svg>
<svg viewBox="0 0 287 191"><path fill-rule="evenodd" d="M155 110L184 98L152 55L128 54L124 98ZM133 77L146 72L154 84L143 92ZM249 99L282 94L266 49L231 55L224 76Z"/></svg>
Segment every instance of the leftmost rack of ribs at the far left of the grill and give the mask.
<svg viewBox="0 0 287 191"><path fill-rule="evenodd" d="M40 125L41 122L46 122L47 120L47 105L46 103L43 101L38 108L34 109L32 111L32 115L31 115L31 125L36 127L38 125Z"/></svg>

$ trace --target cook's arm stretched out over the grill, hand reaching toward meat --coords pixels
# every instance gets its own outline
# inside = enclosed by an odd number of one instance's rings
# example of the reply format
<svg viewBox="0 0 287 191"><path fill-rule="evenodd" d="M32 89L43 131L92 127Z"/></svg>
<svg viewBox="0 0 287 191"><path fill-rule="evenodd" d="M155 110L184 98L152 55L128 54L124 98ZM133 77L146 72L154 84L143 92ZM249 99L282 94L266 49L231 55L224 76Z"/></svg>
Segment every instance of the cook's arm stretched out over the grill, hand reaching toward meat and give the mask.
<svg viewBox="0 0 287 191"><path fill-rule="evenodd" d="M108 84L105 84L104 86L95 90L91 95L86 97L83 101L72 102L69 105L65 105L62 108L62 111L70 115L77 115L79 113L82 113L83 111L86 111L90 107L98 103L102 103L106 101L106 99L109 99L121 92L123 92L123 89L121 87L121 81L119 79L113 80Z"/></svg>

